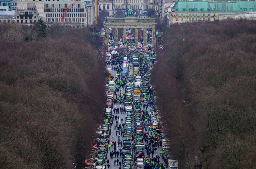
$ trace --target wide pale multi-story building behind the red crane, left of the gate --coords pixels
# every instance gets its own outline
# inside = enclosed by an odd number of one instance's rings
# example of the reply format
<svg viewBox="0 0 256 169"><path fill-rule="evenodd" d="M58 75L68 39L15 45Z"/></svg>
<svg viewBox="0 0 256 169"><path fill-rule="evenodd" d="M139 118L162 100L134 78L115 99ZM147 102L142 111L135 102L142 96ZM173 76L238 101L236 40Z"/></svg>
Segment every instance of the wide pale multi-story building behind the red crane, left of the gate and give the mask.
<svg viewBox="0 0 256 169"><path fill-rule="evenodd" d="M42 19L47 22L62 22L63 12L72 5L75 1L69 0L27 0L17 1L17 5L24 9L37 10L38 15L42 16ZM18 9L19 10L19 9ZM92 24L94 19L89 19L92 12L84 2L77 2L65 15L64 22L82 24L83 26Z"/></svg>

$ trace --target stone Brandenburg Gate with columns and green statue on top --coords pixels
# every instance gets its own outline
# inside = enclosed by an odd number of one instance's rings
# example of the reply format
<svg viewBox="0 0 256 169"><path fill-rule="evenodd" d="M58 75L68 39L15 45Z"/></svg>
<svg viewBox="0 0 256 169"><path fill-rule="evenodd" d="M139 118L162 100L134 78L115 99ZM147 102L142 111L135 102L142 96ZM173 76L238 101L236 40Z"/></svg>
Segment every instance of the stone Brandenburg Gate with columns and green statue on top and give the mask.
<svg viewBox="0 0 256 169"><path fill-rule="evenodd" d="M124 42L126 42L126 29L135 29L134 40L138 42L139 29L143 29L143 44L147 44L147 28L152 29L152 44L155 41L155 18L137 18L132 9L125 13L124 18L107 18L106 44L109 43L109 29L115 29L115 46L118 45L118 29L124 30Z"/></svg>

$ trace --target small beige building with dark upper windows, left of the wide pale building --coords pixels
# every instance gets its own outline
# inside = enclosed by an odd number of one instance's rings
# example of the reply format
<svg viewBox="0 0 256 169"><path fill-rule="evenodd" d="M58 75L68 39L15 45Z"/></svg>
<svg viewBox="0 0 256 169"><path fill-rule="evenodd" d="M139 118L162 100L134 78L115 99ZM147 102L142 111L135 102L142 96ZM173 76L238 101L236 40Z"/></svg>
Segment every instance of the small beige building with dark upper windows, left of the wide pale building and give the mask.
<svg viewBox="0 0 256 169"><path fill-rule="evenodd" d="M32 25L37 22L37 10L17 9L15 11L16 23Z"/></svg>

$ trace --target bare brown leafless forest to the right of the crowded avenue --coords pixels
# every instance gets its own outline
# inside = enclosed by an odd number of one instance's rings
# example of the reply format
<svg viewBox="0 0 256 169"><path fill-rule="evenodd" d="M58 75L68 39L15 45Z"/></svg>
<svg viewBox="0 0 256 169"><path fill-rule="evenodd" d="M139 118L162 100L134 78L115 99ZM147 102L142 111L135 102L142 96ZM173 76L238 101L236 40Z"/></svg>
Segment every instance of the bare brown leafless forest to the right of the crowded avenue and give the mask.
<svg viewBox="0 0 256 169"><path fill-rule="evenodd" d="M181 168L255 168L256 22L173 25L157 54L157 106Z"/></svg>

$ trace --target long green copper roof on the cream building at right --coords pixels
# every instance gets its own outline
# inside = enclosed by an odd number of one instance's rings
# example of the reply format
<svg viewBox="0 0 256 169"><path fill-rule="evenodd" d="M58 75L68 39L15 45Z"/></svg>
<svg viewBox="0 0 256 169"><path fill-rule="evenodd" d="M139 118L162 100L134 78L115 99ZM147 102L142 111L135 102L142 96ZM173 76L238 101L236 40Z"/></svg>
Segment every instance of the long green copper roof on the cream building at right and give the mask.
<svg viewBox="0 0 256 169"><path fill-rule="evenodd" d="M193 12L202 12L201 9L204 9L204 12L207 12L207 9L211 9L210 12L253 12L256 11L256 1L178 1L172 9L176 9L176 12L182 12L182 9L186 12L192 12L189 9L197 9Z"/></svg>

